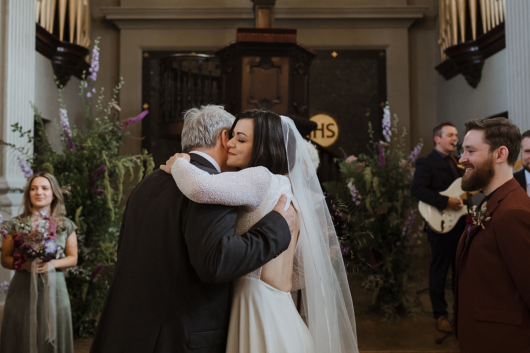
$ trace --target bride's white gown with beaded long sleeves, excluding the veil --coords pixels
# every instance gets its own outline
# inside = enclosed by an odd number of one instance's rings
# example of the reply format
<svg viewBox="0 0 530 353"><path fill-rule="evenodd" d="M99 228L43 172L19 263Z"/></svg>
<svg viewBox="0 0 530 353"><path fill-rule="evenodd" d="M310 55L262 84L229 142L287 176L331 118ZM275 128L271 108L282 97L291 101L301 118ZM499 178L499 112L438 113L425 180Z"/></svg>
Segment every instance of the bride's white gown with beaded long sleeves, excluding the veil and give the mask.
<svg viewBox="0 0 530 353"><path fill-rule="evenodd" d="M293 200L289 180L261 166L211 175L179 158L171 172L192 201L241 206L234 225L236 235L267 215L282 194L288 198L286 207ZM263 282L260 274L261 268L234 281L227 353L315 353L311 334L290 293ZM299 288L299 283L294 287Z"/></svg>

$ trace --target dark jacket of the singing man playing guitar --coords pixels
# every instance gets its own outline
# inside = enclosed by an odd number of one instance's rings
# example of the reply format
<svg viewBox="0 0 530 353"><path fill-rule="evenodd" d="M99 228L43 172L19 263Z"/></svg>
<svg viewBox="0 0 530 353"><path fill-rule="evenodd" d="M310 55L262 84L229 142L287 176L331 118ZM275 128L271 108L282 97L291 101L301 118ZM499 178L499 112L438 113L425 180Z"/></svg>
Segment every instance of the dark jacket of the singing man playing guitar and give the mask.
<svg viewBox="0 0 530 353"><path fill-rule="evenodd" d="M449 198L441 196L439 192L451 186L455 179L451 166L433 149L427 157L418 158L411 192L419 200L443 210Z"/></svg>

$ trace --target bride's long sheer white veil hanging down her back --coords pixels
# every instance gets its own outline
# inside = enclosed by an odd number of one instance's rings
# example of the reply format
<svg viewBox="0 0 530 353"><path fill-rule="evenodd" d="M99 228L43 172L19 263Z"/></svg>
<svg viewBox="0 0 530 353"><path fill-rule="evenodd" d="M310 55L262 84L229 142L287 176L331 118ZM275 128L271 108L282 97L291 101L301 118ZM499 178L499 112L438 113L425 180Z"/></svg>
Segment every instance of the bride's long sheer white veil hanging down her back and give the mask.
<svg viewBox="0 0 530 353"><path fill-rule="evenodd" d="M298 269L307 325L319 353L357 353L354 305L337 234L303 137L281 116L300 223Z"/></svg>

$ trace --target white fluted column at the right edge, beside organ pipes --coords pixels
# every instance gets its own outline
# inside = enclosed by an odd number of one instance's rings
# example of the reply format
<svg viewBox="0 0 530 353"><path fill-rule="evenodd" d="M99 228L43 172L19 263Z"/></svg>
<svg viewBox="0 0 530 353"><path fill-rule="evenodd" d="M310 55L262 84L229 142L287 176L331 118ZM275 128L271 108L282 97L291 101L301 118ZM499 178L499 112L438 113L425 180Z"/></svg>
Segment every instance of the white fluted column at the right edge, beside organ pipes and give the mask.
<svg viewBox="0 0 530 353"><path fill-rule="evenodd" d="M506 1L508 116L521 133L530 130L530 1Z"/></svg>

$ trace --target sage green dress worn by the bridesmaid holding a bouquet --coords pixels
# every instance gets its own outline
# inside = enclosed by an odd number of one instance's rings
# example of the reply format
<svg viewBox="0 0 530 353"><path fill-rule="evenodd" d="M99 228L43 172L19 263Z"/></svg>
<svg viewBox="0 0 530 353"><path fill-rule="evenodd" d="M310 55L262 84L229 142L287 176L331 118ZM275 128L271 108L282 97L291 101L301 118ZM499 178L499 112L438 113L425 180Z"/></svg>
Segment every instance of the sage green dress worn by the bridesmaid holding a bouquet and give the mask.
<svg viewBox="0 0 530 353"><path fill-rule="evenodd" d="M2 228L11 233L12 220L4 222ZM56 243L65 249L66 238L77 229L74 222L64 219L62 229L57 228ZM65 257L65 254L61 254ZM44 313L44 293L42 281L38 281L37 303L37 349L39 353L73 353L74 341L72 334L72 310L66 289L64 273L57 275L57 338L55 347L47 342L46 317ZM40 276L40 275L39 275ZM26 270L16 271L11 279L5 298L4 315L2 317L2 334L0 336L0 353L27 353L30 351L30 277Z"/></svg>

